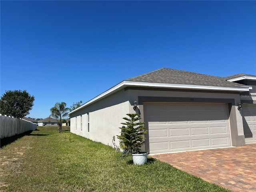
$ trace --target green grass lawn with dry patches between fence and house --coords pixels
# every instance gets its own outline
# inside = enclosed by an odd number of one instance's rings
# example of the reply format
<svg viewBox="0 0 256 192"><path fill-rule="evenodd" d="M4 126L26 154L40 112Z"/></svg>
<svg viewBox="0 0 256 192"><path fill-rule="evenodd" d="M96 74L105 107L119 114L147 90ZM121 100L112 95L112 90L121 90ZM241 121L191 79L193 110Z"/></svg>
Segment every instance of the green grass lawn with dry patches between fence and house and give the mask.
<svg viewBox="0 0 256 192"><path fill-rule="evenodd" d="M142 166L64 128L38 127L1 140L4 192L229 192L149 157Z"/></svg>

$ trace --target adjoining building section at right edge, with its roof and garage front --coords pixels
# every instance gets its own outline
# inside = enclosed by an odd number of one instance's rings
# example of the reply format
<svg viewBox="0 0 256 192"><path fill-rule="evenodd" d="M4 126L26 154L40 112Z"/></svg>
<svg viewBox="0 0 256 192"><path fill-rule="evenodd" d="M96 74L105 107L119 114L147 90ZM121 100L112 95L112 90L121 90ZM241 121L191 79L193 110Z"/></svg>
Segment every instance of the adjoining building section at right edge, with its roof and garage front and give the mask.
<svg viewBox="0 0 256 192"><path fill-rule="evenodd" d="M249 91L240 93L242 103L241 115L243 118L245 143L256 142L256 76L236 74L225 79L252 87Z"/></svg>

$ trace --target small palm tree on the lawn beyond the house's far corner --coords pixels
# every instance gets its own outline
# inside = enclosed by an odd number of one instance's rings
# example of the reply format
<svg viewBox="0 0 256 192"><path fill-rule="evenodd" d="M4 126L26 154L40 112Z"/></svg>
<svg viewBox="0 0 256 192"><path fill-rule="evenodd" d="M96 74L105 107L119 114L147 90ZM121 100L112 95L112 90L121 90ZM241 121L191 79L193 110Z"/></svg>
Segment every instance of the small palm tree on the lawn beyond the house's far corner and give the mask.
<svg viewBox="0 0 256 192"><path fill-rule="evenodd" d="M66 107L65 102L57 102L54 107L50 108L50 117L56 118L58 120L58 130L59 132L62 131L62 119L66 116L68 116L68 112L70 111L70 108Z"/></svg>

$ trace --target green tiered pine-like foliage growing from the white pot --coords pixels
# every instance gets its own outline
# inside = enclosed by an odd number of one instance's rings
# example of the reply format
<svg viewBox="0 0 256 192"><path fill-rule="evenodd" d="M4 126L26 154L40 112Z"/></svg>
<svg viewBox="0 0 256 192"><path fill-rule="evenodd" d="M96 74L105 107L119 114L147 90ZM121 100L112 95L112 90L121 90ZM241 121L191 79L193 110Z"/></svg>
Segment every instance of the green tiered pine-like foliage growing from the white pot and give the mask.
<svg viewBox="0 0 256 192"><path fill-rule="evenodd" d="M123 156L132 152L137 154L140 153L140 148L142 144L145 142L144 135L148 132L145 131L144 122L139 122L141 119L138 117L138 114L126 114L129 118L124 117L123 119L126 120L125 123L121 123L124 126L120 127L122 130L121 135L118 135L117 138L119 139L120 148L123 150Z"/></svg>

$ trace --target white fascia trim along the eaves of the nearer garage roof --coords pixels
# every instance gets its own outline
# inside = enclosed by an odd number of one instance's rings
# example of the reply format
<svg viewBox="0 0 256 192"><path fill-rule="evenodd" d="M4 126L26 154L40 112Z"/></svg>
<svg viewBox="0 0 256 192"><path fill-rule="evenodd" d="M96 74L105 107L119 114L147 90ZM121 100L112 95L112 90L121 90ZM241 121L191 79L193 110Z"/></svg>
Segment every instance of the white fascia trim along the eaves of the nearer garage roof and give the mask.
<svg viewBox="0 0 256 192"><path fill-rule="evenodd" d="M104 98L110 93L114 93L118 91L120 88L128 87L128 86L136 86L136 87L158 87L158 88L180 88L180 89L196 89L196 90L224 90L224 91L238 91L238 92L245 92L252 89L252 87L244 87L244 88L234 88L234 87L216 87L216 86L200 86L200 85L182 85L182 84L162 84L162 83L148 83L148 82L130 82L130 81L123 81L120 84L106 90L102 94L96 96L92 100L86 102L82 106L76 108L69 114L76 112L77 110L84 108L85 106L99 100L100 98Z"/></svg>

